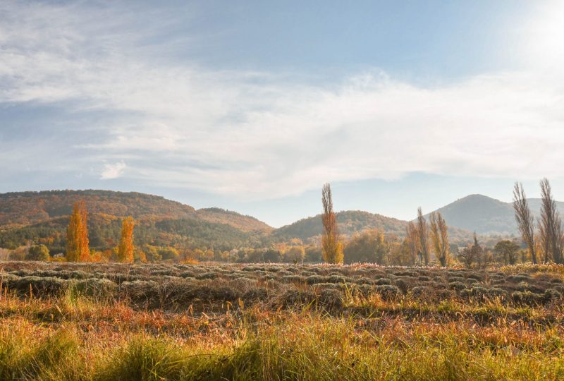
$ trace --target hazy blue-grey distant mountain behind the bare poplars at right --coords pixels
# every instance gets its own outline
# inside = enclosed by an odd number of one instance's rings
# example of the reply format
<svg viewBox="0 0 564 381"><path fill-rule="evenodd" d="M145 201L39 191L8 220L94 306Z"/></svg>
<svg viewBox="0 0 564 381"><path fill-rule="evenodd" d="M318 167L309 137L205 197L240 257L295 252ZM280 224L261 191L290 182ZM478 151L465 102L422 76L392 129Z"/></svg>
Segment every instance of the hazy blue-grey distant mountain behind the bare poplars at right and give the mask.
<svg viewBox="0 0 564 381"><path fill-rule="evenodd" d="M564 214L564 202L556 202L556 205L560 214ZM529 207L534 217L538 218L541 200L529 198ZM449 226L476 231L479 234L518 234L511 202L503 202L485 195L467 195L436 211L443 214Z"/></svg>

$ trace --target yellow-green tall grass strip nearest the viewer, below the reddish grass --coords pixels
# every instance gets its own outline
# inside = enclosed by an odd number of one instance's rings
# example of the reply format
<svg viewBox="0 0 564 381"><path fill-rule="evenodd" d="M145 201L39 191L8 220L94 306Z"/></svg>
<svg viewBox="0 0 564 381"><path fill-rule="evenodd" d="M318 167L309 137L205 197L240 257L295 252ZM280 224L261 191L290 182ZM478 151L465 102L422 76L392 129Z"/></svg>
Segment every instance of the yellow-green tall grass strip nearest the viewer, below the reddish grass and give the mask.
<svg viewBox="0 0 564 381"><path fill-rule="evenodd" d="M555 329L472 329L448 323L272 317L237 327L226 341L166 334L80 333L78 325L0 334L0 380L561 380L563 340ZM523 332L522 332L523 333Z"/></svg>

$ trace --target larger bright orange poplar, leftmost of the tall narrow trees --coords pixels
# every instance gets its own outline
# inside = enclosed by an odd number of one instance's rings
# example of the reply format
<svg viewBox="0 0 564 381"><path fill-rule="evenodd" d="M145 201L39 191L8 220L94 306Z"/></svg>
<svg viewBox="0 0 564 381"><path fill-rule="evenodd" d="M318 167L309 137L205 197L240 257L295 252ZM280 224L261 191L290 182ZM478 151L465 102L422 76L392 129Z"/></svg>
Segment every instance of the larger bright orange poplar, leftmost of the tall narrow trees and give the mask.
<svg viewBox="0 0 564 381"><path fill-rule="evenodd" d="M90 262L87 211L84 201L75 202L66 230L66 260Z"/></svg>

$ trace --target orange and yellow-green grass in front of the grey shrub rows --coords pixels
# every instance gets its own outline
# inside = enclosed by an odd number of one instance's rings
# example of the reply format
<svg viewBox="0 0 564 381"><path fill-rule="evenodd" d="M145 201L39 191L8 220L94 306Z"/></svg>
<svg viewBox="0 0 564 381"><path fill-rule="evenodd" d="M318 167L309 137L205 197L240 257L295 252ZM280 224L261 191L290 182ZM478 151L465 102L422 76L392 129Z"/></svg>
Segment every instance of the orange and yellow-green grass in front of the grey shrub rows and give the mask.
<svg viewBox="0 0 564 381"><path fill-rule="evenodd" d="M267 266L257 267L249 272ZM315 286L276 288L257 303L239 298L212 306L196 296L190 306L176 308L139 306L121 297L119 286L110 287L115 297L75 287L40 296L4 290L0 380L564 378L561 303L439 300L409 292L388 298L358 294L347 285L335 309L307 294ZM276 303L278 291L288 290L305 294L285 299L294 305Z"/></svg>

